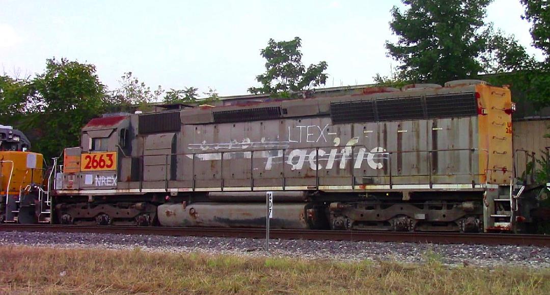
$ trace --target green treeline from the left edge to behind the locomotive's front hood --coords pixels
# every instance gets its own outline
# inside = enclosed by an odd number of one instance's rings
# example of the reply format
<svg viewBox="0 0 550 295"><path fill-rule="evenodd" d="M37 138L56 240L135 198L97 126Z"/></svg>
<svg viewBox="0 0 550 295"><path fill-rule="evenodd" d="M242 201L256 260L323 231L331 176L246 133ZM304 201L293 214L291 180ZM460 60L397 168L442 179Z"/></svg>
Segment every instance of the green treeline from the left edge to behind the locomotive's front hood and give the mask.
<svg viewBox="0 0 550 295"><path fill-rule="evenodd" d="M31 150L49 162L66 147L79 146L81 129L92 118L105 113L150 109L150 103L212 103L219 99L209 88L198 99L195 87L151 90L131 72L124 73L120 86L108 91L96 67L62 58L46 60L46 69L34 77L0 76L0 124L12 125L31 140ZM183 95L182 95L183 94Z"/></svg>

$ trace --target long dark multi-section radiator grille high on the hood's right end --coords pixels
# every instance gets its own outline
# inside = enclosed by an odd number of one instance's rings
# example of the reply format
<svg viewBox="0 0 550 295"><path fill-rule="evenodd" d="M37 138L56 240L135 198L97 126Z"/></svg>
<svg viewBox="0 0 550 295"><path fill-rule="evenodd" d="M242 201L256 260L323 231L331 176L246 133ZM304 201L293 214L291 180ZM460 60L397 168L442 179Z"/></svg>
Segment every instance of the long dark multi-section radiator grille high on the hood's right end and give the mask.
<svg viewBox="0 0 550 295"><path fill-rule="evenodd" d="M334 124L475 115L477 115L475 93L331 103L331 119Z"/></svg>

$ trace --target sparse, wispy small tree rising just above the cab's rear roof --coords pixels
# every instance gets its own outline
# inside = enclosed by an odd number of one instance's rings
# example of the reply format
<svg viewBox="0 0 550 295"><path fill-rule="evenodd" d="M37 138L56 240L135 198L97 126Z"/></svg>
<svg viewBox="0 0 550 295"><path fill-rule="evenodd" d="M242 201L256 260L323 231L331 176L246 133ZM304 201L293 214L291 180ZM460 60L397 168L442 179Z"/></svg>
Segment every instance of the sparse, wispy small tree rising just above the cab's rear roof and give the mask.
<svg viewBox="0 0 550 295"><path fill-rule="evenodd" d="M162 96L164 91L162 87L157 86L156 90L151 90L145 82L140 82L134 77L132 72L124 73L119 80L120 87L112 91L112 104L114 105L140 105L156 102Z"/></svg>

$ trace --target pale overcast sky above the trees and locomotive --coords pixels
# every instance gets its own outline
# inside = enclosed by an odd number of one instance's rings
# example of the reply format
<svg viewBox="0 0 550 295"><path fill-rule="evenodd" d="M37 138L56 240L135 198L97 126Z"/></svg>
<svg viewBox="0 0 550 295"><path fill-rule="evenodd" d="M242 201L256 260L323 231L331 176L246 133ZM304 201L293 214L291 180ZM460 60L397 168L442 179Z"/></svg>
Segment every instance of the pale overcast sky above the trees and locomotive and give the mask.
<svg viewBox="0 0 550 295"><path fill-rule="evenodd" d="M304 64L328 63L327 87L368 84L395 62L388 1L23 1L0 0L0 74L42 73L47 58L97 66L118 86L124 72L154 88L215 88L246 94L263 73L260 48L270 38L302 38ZM519 0L495 0L487 21L528 51L530 25Z"/></svg>

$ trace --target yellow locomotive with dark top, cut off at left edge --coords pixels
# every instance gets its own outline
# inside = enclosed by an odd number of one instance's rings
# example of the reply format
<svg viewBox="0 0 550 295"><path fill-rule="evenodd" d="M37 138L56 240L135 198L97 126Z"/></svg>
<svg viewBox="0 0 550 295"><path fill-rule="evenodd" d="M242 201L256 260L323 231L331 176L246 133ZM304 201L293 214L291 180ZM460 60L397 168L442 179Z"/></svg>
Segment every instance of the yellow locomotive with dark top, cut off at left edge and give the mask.
<svg viewBox="0 0 550 295"><path fill-rule="evenodd" d="M50 222L44 159L30 147L23 132L0 125L0 223Z"/></svg>

